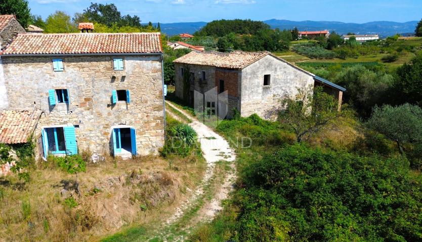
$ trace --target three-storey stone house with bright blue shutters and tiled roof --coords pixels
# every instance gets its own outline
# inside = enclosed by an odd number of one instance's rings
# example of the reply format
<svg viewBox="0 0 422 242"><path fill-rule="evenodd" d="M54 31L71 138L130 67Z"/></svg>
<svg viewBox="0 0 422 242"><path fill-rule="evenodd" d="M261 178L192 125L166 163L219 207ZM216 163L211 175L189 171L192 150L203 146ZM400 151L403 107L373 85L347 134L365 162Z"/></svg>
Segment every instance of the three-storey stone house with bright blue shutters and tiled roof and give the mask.
<svg viewBox="0 0 422 242"><path fill-rule="evenodd" d="M2 88L0 112L40 112L40 157L132 157L164 143L160 33L18 34L0 54Z"/></svg>

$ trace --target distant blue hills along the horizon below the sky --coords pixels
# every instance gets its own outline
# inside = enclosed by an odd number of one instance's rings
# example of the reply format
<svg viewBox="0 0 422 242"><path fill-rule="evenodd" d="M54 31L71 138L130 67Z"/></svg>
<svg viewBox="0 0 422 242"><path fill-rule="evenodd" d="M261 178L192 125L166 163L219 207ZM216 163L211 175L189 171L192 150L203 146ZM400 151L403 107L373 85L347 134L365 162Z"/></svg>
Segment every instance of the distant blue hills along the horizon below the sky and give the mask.
<svg viewBox="0 0 422 242"><path fill-rule="evenodd" d="M292 29L294 27L298 27L298 29L301 31L328 29L330 32L335 31L340 34L352 32L355 34L379 34L381 37L387 37L397 33L413 33L418 21L410 21L405 23L375 21L363 24L356 24L335 21L289 21L271 19L266 20L264 22L269 24L271 28L279 29ZM154 25L156 25L156 23ZM168 35L176 35L179 33L192 34L205 25L206 22L168 24L160 23L161 30Z"/></svg>

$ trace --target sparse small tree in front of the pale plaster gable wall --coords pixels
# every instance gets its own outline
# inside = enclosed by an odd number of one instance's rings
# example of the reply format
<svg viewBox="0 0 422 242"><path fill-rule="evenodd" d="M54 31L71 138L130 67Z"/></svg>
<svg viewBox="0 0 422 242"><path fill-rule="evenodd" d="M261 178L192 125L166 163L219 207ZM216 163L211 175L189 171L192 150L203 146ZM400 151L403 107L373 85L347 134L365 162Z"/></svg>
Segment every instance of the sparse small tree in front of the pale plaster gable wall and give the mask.
<svg viewBox="0 0 422 242"><path fill-rule="evenodd" d="M293 130L298 143L334 128L336 120L347 114L339 110L339 101L321 87L315 87L313 92L312 87L299 89L296 97L285 95L280 104L278 120Z"/></svg>

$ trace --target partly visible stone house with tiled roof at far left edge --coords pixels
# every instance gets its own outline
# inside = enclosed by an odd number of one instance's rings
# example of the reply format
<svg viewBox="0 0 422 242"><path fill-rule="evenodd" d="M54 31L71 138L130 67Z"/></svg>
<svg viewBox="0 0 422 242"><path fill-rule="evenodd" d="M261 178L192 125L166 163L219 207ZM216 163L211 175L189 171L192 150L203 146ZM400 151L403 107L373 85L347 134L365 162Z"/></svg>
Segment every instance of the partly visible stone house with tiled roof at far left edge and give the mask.
<svg viewBox="0 0 422 242"><path fill-rule="evenodd" d="M0 15L0 50L12 42L13 38L25 33L25 29L19 24L13 15Z"/></svg>

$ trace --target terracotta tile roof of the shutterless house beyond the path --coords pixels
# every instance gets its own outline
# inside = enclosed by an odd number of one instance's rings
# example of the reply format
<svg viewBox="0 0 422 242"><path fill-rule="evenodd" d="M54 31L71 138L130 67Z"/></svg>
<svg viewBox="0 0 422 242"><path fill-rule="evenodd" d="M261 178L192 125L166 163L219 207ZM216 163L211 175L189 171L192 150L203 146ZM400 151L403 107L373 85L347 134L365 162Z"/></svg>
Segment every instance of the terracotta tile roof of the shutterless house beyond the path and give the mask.
<svg viewBox="0 0 422 242"><path fill-rule="evenodd" d="M262 52L234 51L231 53L221 53L216 51L195 52L192 51L176 59L174 63L214 66L228 69L243 69L246 66L258 61L262 57L270 54Z"/></svg>

